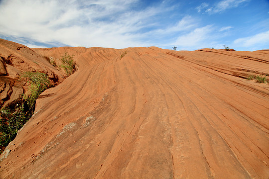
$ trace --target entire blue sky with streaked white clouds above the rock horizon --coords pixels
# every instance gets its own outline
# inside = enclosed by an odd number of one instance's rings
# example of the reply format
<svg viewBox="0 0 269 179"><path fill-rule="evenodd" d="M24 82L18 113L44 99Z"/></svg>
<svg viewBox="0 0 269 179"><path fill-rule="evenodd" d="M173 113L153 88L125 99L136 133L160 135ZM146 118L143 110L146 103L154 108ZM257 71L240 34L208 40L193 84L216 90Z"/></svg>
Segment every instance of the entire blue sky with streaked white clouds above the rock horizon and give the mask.
<svg viewBox="0 0 269 179"><path fill-rule="evenodd" d="M269 49L269 0L0 0L0 38L41 48Z"/></svg>

